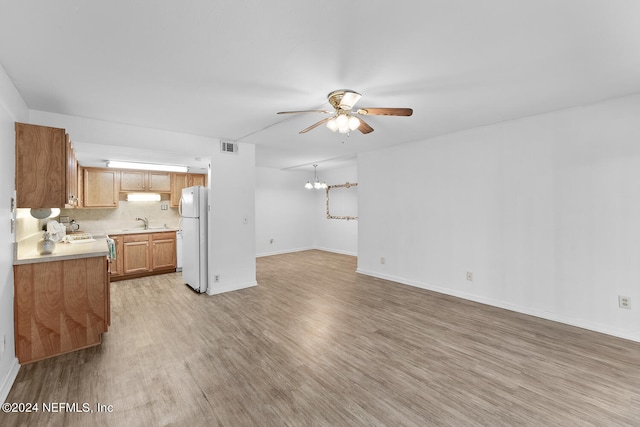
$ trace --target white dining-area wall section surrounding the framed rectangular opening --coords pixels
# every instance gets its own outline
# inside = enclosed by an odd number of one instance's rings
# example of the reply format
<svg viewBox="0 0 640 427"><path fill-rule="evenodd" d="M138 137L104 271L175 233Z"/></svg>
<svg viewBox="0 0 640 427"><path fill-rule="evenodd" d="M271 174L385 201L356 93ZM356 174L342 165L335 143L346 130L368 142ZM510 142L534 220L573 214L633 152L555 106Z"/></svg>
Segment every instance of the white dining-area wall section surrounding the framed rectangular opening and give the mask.
<svg viewBox="0 0 640 427"><path fill-rule="evenodd" d="M358 182L358 167L322 170L318 172L327 185L341 185ZM349 191L354 191L353 189ZM355 190L358 191L358 190ZM327 197L325 191L318 191L316 198L314 247L329 252L358 255L358 221L327 218Z"/></svg>

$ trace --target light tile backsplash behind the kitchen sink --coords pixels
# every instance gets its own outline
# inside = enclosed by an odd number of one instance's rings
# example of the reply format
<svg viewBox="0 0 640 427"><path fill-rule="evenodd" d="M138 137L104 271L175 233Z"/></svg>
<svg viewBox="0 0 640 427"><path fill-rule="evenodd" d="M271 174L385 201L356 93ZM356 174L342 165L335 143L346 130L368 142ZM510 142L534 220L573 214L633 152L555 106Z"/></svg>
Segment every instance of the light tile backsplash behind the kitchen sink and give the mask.
<svg viewBox="0 0 640 427"><path fill-rule="evenodd" d="M80 224L80 231L88 233L114 232L122 229L143 228L142 221L136 218L146 217L149 227L180 228L178 208L169 207L162 210L162 205L169 205L168 200L160 202L127 202L120 200L116 209L62 209L60 216L68 216L69 221L75 219ZM56 218L60 221L59 218Z"/></svg>

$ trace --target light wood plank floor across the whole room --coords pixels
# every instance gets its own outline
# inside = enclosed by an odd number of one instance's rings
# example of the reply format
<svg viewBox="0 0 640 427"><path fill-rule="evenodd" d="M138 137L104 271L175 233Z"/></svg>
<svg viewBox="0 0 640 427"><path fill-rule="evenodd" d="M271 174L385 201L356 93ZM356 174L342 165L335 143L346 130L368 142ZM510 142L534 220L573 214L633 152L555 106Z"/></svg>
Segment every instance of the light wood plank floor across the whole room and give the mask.
<svg viewBox="0 0 640 427"><path fill-rule="evenodd" d="M2 426L640 425L640 344L355 273L259 258L259 286L112 284L103 344L21 367Z"/></svg>

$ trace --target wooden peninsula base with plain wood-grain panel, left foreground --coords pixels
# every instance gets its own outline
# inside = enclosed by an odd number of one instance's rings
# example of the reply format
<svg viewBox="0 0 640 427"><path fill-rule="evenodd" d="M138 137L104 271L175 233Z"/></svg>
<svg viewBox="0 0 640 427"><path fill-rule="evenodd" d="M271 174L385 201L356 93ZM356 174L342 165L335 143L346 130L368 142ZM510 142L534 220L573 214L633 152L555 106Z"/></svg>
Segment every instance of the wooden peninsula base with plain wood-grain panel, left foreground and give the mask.
<svg viewBox="0 0 640 427"><path fill-rule="evenodd" d="M107 262L100 256L14 266L21 364L102 342L111 321Z"/></svg>

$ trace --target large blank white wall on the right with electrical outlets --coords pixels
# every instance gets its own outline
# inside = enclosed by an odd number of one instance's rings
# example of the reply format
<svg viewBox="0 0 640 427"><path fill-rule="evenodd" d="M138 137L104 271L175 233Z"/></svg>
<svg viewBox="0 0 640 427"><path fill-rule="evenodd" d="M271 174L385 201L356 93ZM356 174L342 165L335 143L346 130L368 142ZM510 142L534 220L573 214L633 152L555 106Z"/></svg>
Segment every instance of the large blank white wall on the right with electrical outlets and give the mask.
<svg viewBox="0 0 640 427"><path fill-rule="evenodd" d="M361 154L358 271L640 341L638 117L629 96Z"/></svg>

